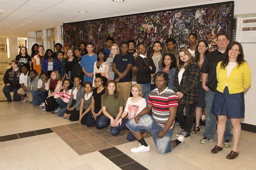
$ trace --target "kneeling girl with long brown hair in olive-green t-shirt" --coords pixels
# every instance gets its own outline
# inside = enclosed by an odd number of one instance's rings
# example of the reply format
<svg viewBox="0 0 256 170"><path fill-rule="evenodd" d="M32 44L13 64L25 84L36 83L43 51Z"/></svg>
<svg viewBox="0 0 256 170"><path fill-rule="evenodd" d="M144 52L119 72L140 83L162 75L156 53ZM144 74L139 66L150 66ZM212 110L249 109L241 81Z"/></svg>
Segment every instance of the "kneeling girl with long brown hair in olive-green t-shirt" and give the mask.
<svg viewBox="0 0 256 170"><path fill-rule="evenodd" d="M124 109L124 99L116 89L115 81L108 81L107 90L101 96L101 106L104 115L100 117L99 126L103 128L110 125L113 129L112 127L116 126L116 122L121 117Z"/></svg>

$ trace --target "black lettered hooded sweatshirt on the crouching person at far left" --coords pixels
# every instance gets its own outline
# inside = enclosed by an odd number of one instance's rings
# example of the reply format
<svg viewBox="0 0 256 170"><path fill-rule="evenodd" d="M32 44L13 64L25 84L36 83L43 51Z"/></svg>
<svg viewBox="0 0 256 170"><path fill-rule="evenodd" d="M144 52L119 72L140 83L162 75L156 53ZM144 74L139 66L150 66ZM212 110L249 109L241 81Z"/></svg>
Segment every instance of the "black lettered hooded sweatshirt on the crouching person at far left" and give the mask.
<svg viewBox="0 0 256 170"><path fill-rule="evenodd" d="M5 85L9 83L14 88L20 87L21 68L20 66L18 67L17 71L14 71L12 67L6 70L3 78Z"/></svg>

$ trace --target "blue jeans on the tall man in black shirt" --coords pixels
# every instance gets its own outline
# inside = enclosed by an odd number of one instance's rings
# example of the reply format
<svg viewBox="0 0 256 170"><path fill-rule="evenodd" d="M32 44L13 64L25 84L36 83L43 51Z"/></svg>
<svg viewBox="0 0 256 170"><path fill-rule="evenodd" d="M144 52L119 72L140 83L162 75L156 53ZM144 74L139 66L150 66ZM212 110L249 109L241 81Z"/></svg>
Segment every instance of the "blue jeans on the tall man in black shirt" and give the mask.
<svg viewBox="0 0 256 170"><path fill-rule="evenodd" d="M204 136L213 139L213 135L216 132L216 115L212 114L212 103L215 92L208 90L205 92L205 103L206 103L206 120L205 120L205 131ZM233 134L231 133L232 124L230 119L227 119L226 130L224 132L224 140L232 140Z"/></svg>

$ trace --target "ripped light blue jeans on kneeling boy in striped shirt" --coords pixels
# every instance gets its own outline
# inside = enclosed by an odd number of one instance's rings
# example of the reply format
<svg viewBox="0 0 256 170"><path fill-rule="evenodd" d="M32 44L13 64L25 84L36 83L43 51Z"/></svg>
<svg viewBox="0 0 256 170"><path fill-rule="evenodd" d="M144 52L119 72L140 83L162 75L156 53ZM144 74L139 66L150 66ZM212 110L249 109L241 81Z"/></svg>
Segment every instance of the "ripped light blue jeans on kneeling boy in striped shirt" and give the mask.
<svg viewBox="0 0 256 170"><path fill-rule="evenodd" d="M131 118L126 126L136 133L144 130L149 131L159 153L164 154L172 151L172 142L170 142L172 138L172 129L169 129L163 138L157 138L158 132L162 131L164 127L156 124L153 116L149 116L148 114L143 115L140 117L140 123L136 123L134 118Z"/></svg>

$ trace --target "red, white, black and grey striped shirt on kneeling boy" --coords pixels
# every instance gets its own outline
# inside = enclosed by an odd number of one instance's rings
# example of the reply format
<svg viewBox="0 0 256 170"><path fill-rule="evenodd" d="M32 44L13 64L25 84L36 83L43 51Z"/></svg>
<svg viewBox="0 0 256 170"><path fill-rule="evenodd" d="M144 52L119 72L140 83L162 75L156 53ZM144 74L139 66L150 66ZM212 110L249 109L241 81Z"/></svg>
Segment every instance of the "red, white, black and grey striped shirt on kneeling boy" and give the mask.
<svg viewBox="0 0 256 170"><path fill-rule="evenodd" d="M154 89L148 96L148 104L152 104L152 113L156 124L164 127L168 118L170 117L169 107L178 107L177 94L166 87L166 89L158 93L158 89ZM174 126L175 120L170 127Z"/></svg>

